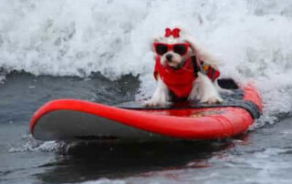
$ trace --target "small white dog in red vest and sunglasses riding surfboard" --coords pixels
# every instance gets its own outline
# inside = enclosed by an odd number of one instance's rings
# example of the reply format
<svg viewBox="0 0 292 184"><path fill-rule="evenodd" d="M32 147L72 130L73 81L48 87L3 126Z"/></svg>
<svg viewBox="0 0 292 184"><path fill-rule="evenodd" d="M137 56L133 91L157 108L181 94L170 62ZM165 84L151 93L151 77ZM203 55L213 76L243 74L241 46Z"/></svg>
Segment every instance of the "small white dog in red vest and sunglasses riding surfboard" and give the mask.
<svg viewBox="0 0 292 184"><path fill-rule="evenodd" d="M166 28L164 36L153 40L152 51L157 87L152 97L144 101L145 106L168 106L178 99L223 102L216 85L218 62L196 46L191 36L182 34L182 29Z"/></svg>

